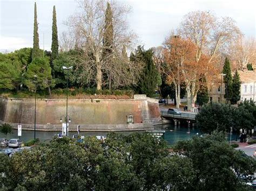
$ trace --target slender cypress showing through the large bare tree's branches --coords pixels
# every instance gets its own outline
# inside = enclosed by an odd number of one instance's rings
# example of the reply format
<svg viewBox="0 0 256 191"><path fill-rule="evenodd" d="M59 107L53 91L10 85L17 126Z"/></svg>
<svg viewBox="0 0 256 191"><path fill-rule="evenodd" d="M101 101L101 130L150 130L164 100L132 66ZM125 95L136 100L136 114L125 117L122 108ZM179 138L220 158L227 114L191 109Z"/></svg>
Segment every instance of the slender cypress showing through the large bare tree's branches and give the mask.
<svg viewBox="0 0 256 191"><path fill-rule="evenodd" d="M103 59L111 66L112 63L112 48L113 48L113 13L110 3L107 2L107 8L105 11L105 26L103 36ZM107 74L109 76L109 89L111 90L112 73L111 69Z"/></svg>

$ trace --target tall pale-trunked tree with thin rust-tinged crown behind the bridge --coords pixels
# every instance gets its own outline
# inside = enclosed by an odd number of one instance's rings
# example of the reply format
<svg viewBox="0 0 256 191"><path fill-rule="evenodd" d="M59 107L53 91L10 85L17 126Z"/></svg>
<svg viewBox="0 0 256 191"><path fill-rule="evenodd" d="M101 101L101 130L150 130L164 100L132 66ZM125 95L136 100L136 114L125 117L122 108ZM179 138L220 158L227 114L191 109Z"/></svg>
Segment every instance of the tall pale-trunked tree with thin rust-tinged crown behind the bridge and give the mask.
<svg viewBox="0 0 256 191"><path fill-rule="evenodd" d="M231 41L241 35L233 19L229 17L217 18L210 11L188 13L184 16L179 31L184 38L191 39L196 45L194 56L197 63L200 62L203 54L208 56L208 63L218 61L221 53L226 51L226 47L230 45ZM207 67L208 65L206 65ZM196 101L199 76L200 73L195 73L191 88L187 88L191 91L191 107ZM190 106L188 107L190 108Z"/></svg>

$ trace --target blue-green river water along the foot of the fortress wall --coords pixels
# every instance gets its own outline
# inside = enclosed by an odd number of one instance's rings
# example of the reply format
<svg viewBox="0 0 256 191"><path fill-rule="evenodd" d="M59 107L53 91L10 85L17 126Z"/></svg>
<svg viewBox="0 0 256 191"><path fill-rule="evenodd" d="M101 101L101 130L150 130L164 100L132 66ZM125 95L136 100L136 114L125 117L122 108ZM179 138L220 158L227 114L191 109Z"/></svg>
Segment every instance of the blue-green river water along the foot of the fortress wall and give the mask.
<svg viewBox="0 0 256 191"><path fill-rule="evenodd" d="M188 128L186 125L178 125L175 127L173 124L164 124L164 125L154 126L154 128L159 130L165 130L164 139L169 144L174 144L179 140L187 140L187 139L191 139L193 136L201 135L198 128L196 127ZM139 132L142 132L142 131L139 131ZM36 138L39 138L41 142L43 142L44 140L51 139L56 133L62 133L62 132L36 131ZM124 132L118 132L118 133L129 135L130 133L132 133L132 131L129 131L129 132L124 131ZM77 134L77 132L69 132L70 137L72 137L72 135L75 135L75 134ZM80 132L79 134L82 136L106 136L107 132ZM33 139L33 137L34 137L33 131L26 131L26 130L22 131L21 139L24 142L27 142L28 140ZM13 130L12 133L8 135L4 135L3 133L0 133L0 138L11 139L11 138L19 138L19 137L18 137L17 130ZM232 135L232 140L234 139L235 139L235 135ZM230 137L227 137L227 140L230 140Z"/></svg>

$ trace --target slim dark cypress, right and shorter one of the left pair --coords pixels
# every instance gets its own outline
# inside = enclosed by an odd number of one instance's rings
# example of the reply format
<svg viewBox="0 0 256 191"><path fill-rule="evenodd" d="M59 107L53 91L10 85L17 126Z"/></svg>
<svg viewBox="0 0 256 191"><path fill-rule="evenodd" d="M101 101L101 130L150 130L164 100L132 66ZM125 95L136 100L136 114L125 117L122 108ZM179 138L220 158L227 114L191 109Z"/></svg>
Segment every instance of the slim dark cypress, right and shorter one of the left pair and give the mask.
<svg viewBox="0 0 256 191"><path fill-rule="evenodd" d="M52 42L51 42L51 64L58 56L58 32L55 5L52 12ZM53 67L52 67L53 68Z"/></svg>

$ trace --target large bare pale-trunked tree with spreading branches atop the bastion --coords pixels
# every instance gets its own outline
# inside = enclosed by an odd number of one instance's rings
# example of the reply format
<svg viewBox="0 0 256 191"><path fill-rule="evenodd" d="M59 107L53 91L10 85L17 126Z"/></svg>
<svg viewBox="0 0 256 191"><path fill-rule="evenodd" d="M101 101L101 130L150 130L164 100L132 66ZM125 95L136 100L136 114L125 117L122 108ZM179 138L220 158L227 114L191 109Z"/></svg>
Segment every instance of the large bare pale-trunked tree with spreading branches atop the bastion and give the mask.
<svg viewBox="0 0 256 191"><path fill-rule="evenodd" d="M79 0L79 12L70 16L66 25L69 26L69 37L71 40L64 40L65 47L77 48L80 51L76 69L79 70L80 83L89 84L95 82L97 89L102 89L109 82L111 71L112 87L127 86L137 81L138 68L129 60L122 56L122 48L130 47L136 38L126 22L126 16L130 12L130 7L111 3L113 12L113 46L111 46L112 62L107 62L103 58L104 29L106 0ZM105 75L103 75L105 74ZM83 77L82 77L83 76ZM104 77L103 77L104 76Z"/></svg>

